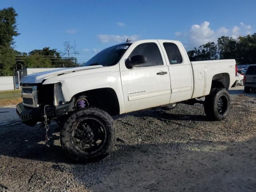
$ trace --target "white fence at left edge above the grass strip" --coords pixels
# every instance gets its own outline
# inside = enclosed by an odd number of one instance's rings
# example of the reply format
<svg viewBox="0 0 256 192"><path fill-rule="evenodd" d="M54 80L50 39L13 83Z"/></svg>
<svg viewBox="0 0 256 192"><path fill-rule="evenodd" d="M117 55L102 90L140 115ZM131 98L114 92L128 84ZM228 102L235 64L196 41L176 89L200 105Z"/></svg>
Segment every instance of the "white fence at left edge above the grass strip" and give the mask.
<svg viewBox="0 0 256 192"><path fill-rule="evenodd" d="M14 90L19 87L18 77L7 76L0 77L0 91Z"/></svg>

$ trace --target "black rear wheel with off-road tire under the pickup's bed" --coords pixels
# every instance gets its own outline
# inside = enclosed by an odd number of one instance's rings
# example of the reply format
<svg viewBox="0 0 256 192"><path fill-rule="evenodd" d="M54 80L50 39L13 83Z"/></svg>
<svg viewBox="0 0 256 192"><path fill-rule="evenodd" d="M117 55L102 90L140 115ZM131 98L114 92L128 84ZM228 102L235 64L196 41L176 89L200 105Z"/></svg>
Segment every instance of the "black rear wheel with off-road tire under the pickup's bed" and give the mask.
<svg viewBox="0 0 256 192"><path fill-rule="evenodd" d="M204 112L210 120L220 121L230 111L230 96L226 89L213 89L204 100Z"/></svg>

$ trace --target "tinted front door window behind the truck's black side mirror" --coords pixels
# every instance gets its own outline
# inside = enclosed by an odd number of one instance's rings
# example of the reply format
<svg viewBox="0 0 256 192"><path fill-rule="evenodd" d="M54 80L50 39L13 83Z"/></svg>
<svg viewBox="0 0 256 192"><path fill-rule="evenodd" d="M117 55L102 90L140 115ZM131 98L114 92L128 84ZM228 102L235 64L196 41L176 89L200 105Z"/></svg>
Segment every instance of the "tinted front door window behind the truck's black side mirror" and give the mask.
<svg viewBox="0 0 256 192"><path fill-rule="evenodd" d="M136 64L134 67L143 67L143 66L154 66L154 65L163 65L162 56L160 54L160 51L158 49L157 44L155 43L143 43L138 45L130 56L128 57L127 62L131 61L131 58L133 56L144 56L145 62L142 64ZM127 68L129 68L126 65Z"/></svg>

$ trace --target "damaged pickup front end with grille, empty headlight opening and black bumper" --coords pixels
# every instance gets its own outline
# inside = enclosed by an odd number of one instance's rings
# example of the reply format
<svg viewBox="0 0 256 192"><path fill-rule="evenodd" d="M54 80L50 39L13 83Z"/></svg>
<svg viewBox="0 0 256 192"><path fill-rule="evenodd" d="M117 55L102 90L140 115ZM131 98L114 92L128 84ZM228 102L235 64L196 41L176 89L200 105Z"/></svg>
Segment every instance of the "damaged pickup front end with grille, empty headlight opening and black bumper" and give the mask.
<svg viewBox="0 0 256 192"><path fill-rule="evenodd" d="M70 111L70 104L64 102L61 84L22 84L22 103L16 106L16 112L22 123L34 126L57 118Z"/></svg>

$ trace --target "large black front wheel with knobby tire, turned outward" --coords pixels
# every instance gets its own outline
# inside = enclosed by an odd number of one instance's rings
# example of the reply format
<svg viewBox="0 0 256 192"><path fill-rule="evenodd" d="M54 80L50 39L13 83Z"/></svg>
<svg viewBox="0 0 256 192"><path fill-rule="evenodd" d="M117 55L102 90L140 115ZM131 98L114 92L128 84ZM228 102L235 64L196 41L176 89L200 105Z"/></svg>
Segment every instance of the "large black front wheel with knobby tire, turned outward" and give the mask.
<svg viewBox="0 0 256 192"><path fill-rule="evenodd" d="M112 117L99 108L74 112L60 131L60 143L76 162L92 162L106 157L115 144Z"/></svg>

